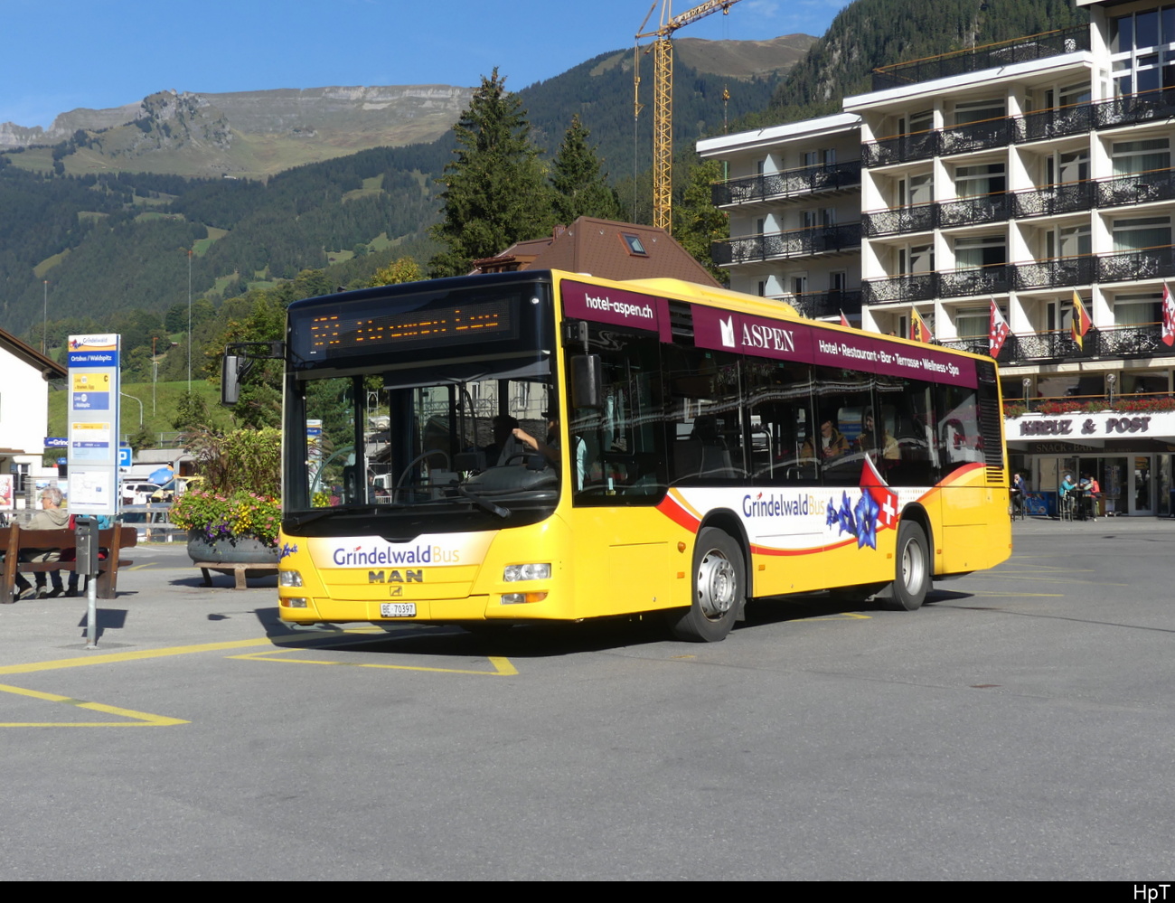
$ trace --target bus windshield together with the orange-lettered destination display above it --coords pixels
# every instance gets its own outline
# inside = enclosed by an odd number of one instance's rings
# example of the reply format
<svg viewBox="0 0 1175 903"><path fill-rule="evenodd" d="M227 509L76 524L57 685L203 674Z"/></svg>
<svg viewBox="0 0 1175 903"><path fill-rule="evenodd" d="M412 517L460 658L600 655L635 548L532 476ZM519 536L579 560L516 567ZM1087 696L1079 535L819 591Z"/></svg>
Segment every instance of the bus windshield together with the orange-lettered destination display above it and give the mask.
<svg viewBox="0 0 1175 903"><path fill-rule="evenodd" d="M479 285L388 288L345 315L291 306L288 526L358 516L396 533L389 519L436 515L430 530L464 530L553 509L558 468L515 435L545 436L555 407L549 289Z"/></svg>

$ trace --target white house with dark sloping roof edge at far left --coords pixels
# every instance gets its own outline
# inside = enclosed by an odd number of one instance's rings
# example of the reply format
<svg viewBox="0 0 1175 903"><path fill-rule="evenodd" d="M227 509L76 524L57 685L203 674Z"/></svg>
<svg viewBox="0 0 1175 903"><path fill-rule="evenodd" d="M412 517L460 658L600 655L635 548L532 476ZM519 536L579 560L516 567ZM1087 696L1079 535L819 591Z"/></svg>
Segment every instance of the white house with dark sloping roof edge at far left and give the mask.
<svg viewBox="0 0 1175 903"><path fill-rule="evenodd" d="M49 416L48 381L65 376L61 364L0 329L0 510L22 507L27 480L56 475L42 468L41 457Z"/></svg>

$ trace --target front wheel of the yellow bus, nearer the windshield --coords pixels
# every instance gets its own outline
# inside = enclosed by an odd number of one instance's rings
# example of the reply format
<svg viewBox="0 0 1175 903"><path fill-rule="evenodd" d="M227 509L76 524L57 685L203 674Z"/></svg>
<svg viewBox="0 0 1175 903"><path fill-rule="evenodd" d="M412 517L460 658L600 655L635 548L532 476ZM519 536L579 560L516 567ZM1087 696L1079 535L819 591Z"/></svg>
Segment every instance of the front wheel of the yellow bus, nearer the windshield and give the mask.
<svg viewBox="0 0 1175 903"><path fill-rule="evenodd" d="M743 550L730 534L706 527L693 547L693 601L670 613L670 630L678 640L717 643L725 640L746 595Z"/></svg>

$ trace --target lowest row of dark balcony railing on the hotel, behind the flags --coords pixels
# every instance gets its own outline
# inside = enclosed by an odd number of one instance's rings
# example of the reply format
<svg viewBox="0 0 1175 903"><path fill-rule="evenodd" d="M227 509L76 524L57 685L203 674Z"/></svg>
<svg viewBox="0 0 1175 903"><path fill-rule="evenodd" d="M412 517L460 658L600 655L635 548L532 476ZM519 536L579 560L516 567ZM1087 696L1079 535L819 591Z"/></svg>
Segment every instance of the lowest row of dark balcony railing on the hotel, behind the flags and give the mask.
<svg viewBox="0 0 1175 903"><path fill-rule="evenodd" d="M1162 323L1113 326L1107 329L1095 327L1086 333L1081 347L1077 347L1069 329L1013 333L1000 349L999 361L1007 366L1065 360L1153 357L1157 354L1170 354L1170 349L1163 345L1162 334ZM991 348L986 335L954 339L942 345L974 354L988 354Z"/></svg>

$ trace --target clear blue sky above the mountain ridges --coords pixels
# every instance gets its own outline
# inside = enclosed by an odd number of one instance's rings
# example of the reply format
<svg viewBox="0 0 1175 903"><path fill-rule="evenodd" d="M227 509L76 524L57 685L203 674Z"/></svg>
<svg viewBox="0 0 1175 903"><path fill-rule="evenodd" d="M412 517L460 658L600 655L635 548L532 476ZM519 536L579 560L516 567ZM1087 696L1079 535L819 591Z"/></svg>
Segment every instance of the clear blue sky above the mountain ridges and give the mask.
<svg viewBox="0 0 1175 903"><path fill-rule="evenodd" d="M676 0L683 13L700 0ZM739 0L682 38L824 34L848 0ZM49 126L156 91L478 83L515 91L632 46L651 0L0 0L0 122ZM656 22L662 0L650 19Z"/></svg>

